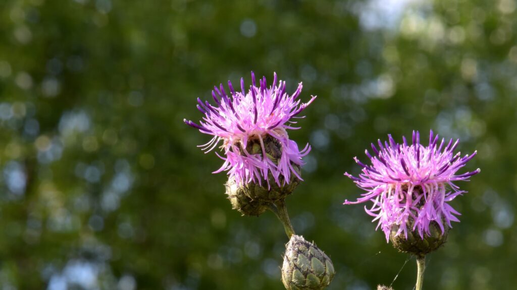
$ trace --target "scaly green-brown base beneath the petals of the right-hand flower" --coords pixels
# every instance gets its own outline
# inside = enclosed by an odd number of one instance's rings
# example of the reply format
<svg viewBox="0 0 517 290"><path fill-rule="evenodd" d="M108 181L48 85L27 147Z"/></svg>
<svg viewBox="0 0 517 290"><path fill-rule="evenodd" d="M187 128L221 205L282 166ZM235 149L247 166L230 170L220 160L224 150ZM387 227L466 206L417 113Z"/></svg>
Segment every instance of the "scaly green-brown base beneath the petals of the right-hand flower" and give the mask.
<svg viewBox="0 0 517 290"><path fill-rule="evenodd" d="M413 229L414 221L412 218L407 222L408 229ZM423 233L423 237L420 236L417 230L407 231L407 238L404 233L399 233L398 225L393 225L391 228L390 240L393 247L401 252L415 254L417 256L423 256L432 251L435 251L447 241L447 235L449 234L449 227L447 223L444 224L444 231L440 229L436 221L432 221L429 224L429 233Z"/></svg>

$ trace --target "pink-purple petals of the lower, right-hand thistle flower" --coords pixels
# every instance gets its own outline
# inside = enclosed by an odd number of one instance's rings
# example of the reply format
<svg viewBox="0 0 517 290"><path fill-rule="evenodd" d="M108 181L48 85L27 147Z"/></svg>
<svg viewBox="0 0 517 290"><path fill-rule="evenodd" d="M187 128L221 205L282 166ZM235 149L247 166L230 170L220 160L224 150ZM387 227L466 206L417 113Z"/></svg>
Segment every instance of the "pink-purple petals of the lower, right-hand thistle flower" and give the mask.
<svg viewBox="0 0 517 290"><path fill-rule="evenodd" d="M404 233L407 238L408 221L413 221L413 229L418 230L420 237L424 233L430 235L429 225L435 221L444 233L444 221L451 227L451 221L460 221L455 215L460 215L448 202L466 191L460 190L453 182L468 181L470 176L478 173L479 168L472 172L456 174L465 166L472 155L460 157L460 152L454 154L459 140L452 139L445 146L444 139L439 143L438 135L433 136L431 130L429 145L420 144L420 134L413 131L413 144L408 146L406 138L403 143L396 143L391 135L389 142L378 140L378 148L372 143L370 158L371 165L360 162L362 167L359 177L345 172L354 183L367 192L355 202L345 200L344 204L356 204L372 201L370 208L365 206L367 214L378 220L388 240L391 227L399 225L396 235ZM444 148L445 146L445 148ZM449 186L447 186L449 185ZM450 189L448 189L450 187ZM410 219L410 220L409 220Z"/></svg>

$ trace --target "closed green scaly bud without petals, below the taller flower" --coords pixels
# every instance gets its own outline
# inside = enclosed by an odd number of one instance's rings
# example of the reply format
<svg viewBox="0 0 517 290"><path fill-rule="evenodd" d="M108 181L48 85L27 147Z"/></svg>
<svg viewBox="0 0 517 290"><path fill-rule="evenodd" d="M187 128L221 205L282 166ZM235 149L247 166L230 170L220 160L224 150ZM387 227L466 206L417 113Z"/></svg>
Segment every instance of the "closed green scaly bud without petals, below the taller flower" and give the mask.
<svg viewBox="0 0 517 290"><path fill-rule="evenodd" d="M322 290L334 278L330 258L314 243L293 235L286 245L282 282L287 290Z"/></svg>

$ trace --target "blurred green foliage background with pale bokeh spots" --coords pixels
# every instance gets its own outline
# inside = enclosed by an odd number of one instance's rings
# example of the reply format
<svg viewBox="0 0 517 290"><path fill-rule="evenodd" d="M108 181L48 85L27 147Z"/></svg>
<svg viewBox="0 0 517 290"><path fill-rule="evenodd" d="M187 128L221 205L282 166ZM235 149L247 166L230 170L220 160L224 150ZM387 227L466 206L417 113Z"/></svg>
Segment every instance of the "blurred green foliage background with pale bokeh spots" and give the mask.
<svg viewBox="0 0 517 290"><path fill-rule="evenodd" d="M478 150L429 255L427 289L517 283L514 0L0 2L0 288L283 289L287 238L241 217L195 99L249 72L318 95L312 152L287 198L296 231L330 255L329 289L390 284L408 259L361 205L369 143L432 128ZM414 259L393 283L412 289Z"/></svg>

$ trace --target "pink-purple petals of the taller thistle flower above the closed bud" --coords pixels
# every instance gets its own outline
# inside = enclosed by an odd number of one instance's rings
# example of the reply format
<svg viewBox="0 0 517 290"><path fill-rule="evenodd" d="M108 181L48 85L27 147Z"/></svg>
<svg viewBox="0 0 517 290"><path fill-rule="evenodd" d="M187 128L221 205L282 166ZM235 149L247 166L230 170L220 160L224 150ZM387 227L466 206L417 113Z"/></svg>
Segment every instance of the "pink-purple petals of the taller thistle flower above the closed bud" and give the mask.
<svg viewBox="0 0 517 290"><path fill-rule="evenodd" d="M230 94L227 94L221 84L212 90L215 105L201 101L197 98L197 109L205 116L196 124L184 120L187 125L199 129L201 133L214 136L202 149L206 152L216 148L222 142L224 155L216 154L224 160L221 168L214 173L228 171L230 177L235 178L238 184L249 182L268 181L271 173L275 182L280 186L279 176L283 176L284 183L288 183L291 174L301 180L301 176L293 168L295 165L303 165L302 157L310 151L309 144L303 150L298 149L295 141L287 136L286 129L298 129L292 118L297 117L314 99L307 103L301 103L298 95L302 85L288 95L285 92L285 82L277 84L277 74L274 74L273 84L267 86L266 77L259 80L256 86L255 75L251 72L252 86L245 91L244 78L240 79L240 91L234 90L232 83L228 82ZM264 138L269 135L276 139L281 146L281 156L278 159L267 157L264 147ZM260 142L262 154L248 152L249 141Z"/></svg>

